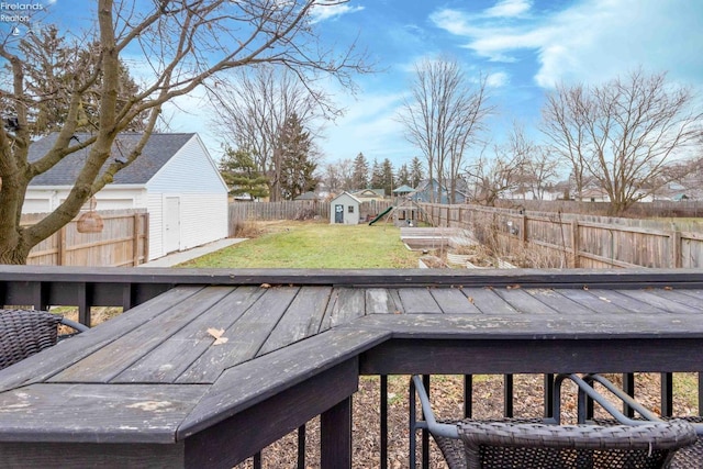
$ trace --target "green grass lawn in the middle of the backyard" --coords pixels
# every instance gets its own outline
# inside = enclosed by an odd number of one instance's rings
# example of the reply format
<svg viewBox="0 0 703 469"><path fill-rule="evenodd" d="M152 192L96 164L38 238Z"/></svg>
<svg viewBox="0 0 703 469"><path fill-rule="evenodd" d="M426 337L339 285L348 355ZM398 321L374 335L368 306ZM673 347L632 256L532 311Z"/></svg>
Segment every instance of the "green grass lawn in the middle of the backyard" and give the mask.
<svg viewBox="0 0 703 469"><path fill-rule="evenodd" d="M408 250L392 225L286 222L267 232L179 267L412 268L420 256Z"/></svg>

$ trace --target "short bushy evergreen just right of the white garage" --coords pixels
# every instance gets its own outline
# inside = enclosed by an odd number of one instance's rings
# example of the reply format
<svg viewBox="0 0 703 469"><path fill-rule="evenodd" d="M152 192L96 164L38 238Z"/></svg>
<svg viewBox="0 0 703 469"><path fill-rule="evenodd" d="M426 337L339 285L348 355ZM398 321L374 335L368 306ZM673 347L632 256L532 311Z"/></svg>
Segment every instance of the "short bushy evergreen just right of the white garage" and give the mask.
<svg viewBox="0 0 703 469"><path fill-rule="evenodd" d="M232 196L248 194L252 200L268 196L266 177L256 170L254 157L244 149L225 149L220 161L220 174Z"/></svg>

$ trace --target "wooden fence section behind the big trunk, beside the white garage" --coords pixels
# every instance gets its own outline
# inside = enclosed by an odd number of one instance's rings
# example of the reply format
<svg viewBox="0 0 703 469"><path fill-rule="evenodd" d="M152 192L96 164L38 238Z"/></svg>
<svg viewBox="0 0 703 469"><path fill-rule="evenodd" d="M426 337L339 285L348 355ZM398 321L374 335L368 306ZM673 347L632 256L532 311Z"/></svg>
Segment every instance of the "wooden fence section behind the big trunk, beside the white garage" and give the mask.
<svg viewBox="0 0 703 469"><path fill-rule="evenodd" d="M78 217L34 246L27 265L135 267L148 259L148 213L144 209L98 212L104 223L99 233L79 233ZM32 225L45 213L22 215Z"/></svg>

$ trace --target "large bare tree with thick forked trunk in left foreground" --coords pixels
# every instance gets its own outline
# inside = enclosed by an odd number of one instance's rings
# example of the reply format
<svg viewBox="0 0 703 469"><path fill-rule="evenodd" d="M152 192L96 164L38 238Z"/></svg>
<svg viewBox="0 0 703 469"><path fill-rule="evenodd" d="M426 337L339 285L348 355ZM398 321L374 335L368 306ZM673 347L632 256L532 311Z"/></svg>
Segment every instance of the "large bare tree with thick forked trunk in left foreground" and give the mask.
<svg viewBox="0 0 703 469"><path fill-rule="evenodd" d="M354 45L339 55L315 35L311 14L315 8L343 0L98 0L92 29L85 44L97 44L98 57L89 74L70 72L42 92L29 89L32 62L13 36L0 40L0 57L10 79L0 85L3 119L0 127L0 263L24 264L33 246L72 220L83 203L142 153L164 103L187 94L217 74L256 64L276 64L301 76L324 72L349 85L352 74L367 71ZM31 47L31 43L25 44ZM131 96L120 93L121 57L142 56L146 76ZM30 160L31 121L41 102L55 93L65 96L66 119L56 143ZM76 142L82 103L94 93L100 109L89 138ZM110 159L118 134L147 113L144 137L130 148L126 163ZM83 167L66 200L33 226L21 226L26 188L67 155L89 148Z"/></svg>

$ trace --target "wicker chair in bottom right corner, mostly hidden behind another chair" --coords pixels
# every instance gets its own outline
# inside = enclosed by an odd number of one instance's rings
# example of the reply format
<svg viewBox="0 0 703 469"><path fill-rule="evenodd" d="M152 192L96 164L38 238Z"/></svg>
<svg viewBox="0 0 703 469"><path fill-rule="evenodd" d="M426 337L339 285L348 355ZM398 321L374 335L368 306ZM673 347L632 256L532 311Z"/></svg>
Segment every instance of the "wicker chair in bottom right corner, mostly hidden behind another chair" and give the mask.
<svg viewBox="0 0 703 469"><path fill-rule="evenodd" d="M594 384L599 383L611 395L627 404L633 411L635 411L639 417L629 418L618 411L609 410L609 413L614 420L593 420L599 425L615 425L618 423L625 423L628 425L641 425L643 422L669 422L670 417L659 417L654 412L641 405L638 401L633 399L629 394L617 388L613 382L609 381L605 377L598 373L590 373L583 377L579 386L579 422L585 422L587 418L587 397L592 395L592 392L596 392ZM592 391L592 392L591 392ZM703 468L703 416L687 416L676 418L685 421L693 425L698 434L695 442L689 446L685 446L678 450L671 461L672 469L701 469Z"/></svg>

